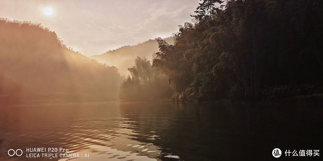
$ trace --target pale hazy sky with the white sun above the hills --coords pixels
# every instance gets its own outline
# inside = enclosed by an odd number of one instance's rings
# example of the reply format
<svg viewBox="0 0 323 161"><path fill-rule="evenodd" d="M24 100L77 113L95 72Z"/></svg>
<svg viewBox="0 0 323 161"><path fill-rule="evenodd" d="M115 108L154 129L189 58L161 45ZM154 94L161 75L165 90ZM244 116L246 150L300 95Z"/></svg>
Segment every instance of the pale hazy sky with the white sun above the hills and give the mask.
<svg viewBox="0 0 323 161"><path fill-rule="evenodd" d="M83 55L178 32L199 0L0 0L0 17L41 23ZM47 15L48 14L48 15Z"/></svg>

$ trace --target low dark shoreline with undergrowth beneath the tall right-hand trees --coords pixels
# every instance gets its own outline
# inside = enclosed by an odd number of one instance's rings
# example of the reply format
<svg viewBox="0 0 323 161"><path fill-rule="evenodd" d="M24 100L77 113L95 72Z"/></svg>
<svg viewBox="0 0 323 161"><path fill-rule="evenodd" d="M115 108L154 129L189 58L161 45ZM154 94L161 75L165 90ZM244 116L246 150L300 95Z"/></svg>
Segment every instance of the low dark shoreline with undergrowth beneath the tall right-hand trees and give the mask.
<svg viewBox="0 0 323 161"><path fill-rule="evenodd" d="M323 104L323 86L321 84L297 84L265 86L256 96L246 97L244 89L236 89L224 96L213 99L199 99L187 91L173 94L175 102L232 102L232 103L297 103Z"/></svg>

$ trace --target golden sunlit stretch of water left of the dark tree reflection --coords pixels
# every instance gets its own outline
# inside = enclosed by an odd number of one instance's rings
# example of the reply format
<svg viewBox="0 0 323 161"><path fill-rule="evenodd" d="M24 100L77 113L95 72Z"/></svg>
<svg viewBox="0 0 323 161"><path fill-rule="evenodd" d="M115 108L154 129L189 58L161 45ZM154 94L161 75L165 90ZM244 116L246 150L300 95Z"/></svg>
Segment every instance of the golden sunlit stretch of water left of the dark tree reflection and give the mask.
<svg viewBox="0 0 323 161"><path fill-rule="evenodd" d="M24 105L1 111L5 115L0 160L18 159L6 156L2 149L20 148L26 153L27 147L63 147L68 148L67 154L79 154L78 158L54 158L59 160L159 160L159 147L132 139L139 134L131 128L133 121L120 115L119 103ZM150 151L142 151L143 147Z"/></svg>

